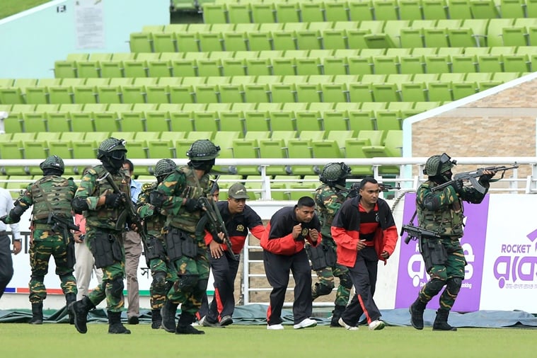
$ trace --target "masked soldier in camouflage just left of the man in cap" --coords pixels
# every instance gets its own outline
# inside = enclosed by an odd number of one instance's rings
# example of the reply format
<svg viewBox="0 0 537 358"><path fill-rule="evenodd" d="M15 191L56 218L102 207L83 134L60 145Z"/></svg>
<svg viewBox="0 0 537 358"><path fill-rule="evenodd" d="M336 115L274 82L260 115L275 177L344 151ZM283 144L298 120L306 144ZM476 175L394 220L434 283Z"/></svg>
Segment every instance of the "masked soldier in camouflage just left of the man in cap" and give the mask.
<svg viewBox="0 0 537 358"><path fill-rule="evenodd" d="M203 334L192 327L200 309L209 279L209 258L202 235L196 226L202 216L199 198L210 194L209 171L214 166L220 147L208 139L197 140L187 151L187 166L168 175L150 202L168 215L166 253L178 279L173 283L161 311L162 327L179 335ZM175 327L175 314L181 304L181 315Z"/></svg>

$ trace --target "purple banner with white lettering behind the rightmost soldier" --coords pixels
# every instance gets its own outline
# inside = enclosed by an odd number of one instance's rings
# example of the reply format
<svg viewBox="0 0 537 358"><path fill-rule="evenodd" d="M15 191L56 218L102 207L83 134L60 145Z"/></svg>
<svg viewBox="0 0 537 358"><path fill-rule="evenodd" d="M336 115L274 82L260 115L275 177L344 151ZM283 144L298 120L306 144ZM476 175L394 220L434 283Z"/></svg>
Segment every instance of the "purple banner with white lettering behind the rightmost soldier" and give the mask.
<svg viewBox="0 0 537 358"><path fill-rule="evenodd" d="M487 217L489 195L481 204L464 202L466 226L461 239L466 265L463 286L453 307L454 311L478 311L481 295L481 281L483 277L483 258L485 253L485 236L487 231ZM403 224L408 224L416 208L416 194L405 195L405 209L403 211ZM414 219L417 226L417 218ZM417 247L417 241L405 244L406 234L401 238L399 252L399 269L397 278L397 292L395 294L395 308L406 308L415 301L418 291L428 281L429 275L425 272L425 264ZM427 308L439 307L439 295L435 296Z"/></svg>

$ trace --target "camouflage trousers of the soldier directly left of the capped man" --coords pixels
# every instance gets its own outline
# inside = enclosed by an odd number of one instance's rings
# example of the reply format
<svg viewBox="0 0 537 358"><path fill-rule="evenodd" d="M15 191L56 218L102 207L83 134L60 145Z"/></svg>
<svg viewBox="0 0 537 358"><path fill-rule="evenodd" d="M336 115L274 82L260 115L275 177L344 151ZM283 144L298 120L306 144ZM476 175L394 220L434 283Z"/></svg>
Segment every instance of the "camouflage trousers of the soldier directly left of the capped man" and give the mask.
<svg viewBox="0 0 537 358"><path fill-rule="evenodd" d="M166 298L173 304L181 304L181 311L193 316L202 306L203 295L209 281L209 256L204 241L197 241L195 258L182 256L172 262L177 279Z"/></svg>

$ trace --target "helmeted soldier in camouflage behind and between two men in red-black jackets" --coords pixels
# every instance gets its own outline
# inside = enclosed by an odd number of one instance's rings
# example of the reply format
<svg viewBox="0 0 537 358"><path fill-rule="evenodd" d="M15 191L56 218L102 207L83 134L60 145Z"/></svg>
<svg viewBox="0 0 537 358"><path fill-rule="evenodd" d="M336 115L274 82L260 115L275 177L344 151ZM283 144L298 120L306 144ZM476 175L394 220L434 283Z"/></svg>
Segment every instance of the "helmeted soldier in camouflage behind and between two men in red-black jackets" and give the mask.
<svg viewBox="0 0 537 358"><path fill-rule="evenodd" d="M316 282L311 289L313 300L318 296L330 294L335 287L334 277L340 279L340 285L335 294L335 308L332 312L330 327L341 327L337 321L340 319L341 313L345 311L352 288L349 269L336 263L336 245L330 232L337 210L347 200L348 192L342 191L345 190L346 178L349 173L350 168L345 163L328 163L321 171L319 180L323 184L317 188L314 199L316 211L321 221L323 241L316 248L306 246L312 269L316 271L319 279L319 282Z"/></svg>

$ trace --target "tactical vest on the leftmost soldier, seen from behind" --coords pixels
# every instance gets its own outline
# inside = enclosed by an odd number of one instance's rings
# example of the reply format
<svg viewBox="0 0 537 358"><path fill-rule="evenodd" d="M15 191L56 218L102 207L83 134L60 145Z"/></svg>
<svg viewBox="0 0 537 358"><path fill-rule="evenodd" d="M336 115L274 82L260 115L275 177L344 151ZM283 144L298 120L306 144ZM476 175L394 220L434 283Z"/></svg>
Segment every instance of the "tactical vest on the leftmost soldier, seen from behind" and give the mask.
<svg viewBox="0 0 537 358"><path fill-rule="evenodd" d="M74 192L69 180L60 176L47 175L33 183L31 192L34 219L47 219L51 209L59 216L72 216L71 200L73 200Z"/></svg>

